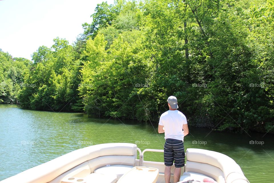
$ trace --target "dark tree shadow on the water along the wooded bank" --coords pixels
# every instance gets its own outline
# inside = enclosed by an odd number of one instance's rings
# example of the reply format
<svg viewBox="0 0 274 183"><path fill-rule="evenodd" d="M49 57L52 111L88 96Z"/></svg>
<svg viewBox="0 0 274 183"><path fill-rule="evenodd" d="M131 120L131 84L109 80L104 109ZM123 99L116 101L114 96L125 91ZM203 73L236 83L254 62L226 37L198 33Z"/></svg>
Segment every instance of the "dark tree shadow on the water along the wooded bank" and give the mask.
<svg viewBox="0 0 274 183"><path fill-rule="evenodd" d="M75 116L81 118L80 120L75 119L73 123L97 123L97 124L112 124L112 125L130 125L134 126L136 129L145 130L148 133L158 134L158 124L150 122L139 122L137 120L119 120L112 119L109 117L88 117L86 114L74 114ZM246 148L252 150L255 153L265 152L266 150L274 150L273 134L263 134L257 132L243 132L240 133L229 133L220 132L217 130L212 130L208 128L196 128L189 127L189 134L185 137L185 142L191 142L193 145L204 145L205 148L209 150L214 150L215 146L220 146L223 152L227 150ZM162 137L161 137L162 138Z"/></svg>

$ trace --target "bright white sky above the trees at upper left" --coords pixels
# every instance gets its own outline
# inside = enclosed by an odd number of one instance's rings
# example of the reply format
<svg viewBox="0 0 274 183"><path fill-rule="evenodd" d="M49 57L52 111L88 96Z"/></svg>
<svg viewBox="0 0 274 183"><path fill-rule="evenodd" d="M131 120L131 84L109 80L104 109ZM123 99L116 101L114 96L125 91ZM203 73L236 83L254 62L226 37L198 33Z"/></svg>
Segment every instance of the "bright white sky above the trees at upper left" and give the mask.
<svg viewBox="0 0 274 183"><path fill-rule="evenodd" d="M114 0L104 0L113 4ZM103 0L0 0L0 49L12 57L31 60L31 54L53 39L72 44L83 33L82 23Z"/></svg>

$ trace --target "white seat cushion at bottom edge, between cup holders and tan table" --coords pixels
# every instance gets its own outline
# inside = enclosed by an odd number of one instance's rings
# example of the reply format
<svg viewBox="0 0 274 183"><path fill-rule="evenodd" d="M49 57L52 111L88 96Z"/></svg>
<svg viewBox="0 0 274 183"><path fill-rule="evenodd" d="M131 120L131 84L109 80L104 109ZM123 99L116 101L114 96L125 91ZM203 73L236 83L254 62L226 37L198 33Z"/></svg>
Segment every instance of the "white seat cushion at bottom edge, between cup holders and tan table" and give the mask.
<svg viewBox="0 0 274 183"><path fill-rule="evenodd" d="M117 176L115 174L98 174L92 173L88 176L84 177L86 183L94 183L94 182L104 182L104 183L115 183L117 182Z"/></svg>

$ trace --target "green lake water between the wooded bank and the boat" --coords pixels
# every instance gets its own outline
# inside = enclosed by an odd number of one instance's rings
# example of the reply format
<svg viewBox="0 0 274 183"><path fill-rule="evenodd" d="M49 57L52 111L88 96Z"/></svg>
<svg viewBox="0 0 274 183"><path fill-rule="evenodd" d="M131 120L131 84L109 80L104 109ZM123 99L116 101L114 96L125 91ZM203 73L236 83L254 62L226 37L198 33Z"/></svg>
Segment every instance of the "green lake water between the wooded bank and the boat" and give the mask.
<svg viewBox="0 0 274 183"><path fill-rule="evenodd" d="M0 105L0 126L0 180L90 145L128 142L144 150L163 149L165 142L164 134L156 133L151 124L88 118L80 113L23 110L16 105ZM230 156L250 182L272 182L273 137L190 127L184 144L185 149L202 148ZM162 162L163 157L161 153L145 153L144 160Z"/></svg>

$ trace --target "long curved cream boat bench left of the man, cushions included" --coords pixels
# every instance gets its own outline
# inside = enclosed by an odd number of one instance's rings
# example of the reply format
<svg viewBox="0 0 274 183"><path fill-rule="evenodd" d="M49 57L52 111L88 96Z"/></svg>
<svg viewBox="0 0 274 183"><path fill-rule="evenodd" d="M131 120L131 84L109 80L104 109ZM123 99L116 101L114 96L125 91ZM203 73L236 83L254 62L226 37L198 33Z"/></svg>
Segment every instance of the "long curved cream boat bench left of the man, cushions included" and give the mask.
<svg viewBox="0 0 274 183"><path fill-rule="evenodd" d="M1 182L114 183L138 164L137 150L140 151L137 145L130 143L88 146L25 170Z"/></svg>

